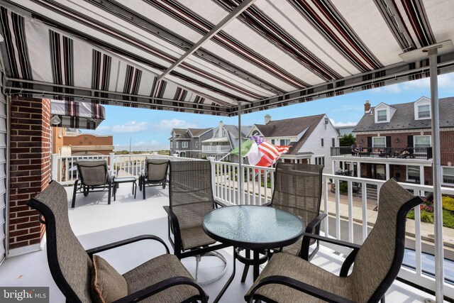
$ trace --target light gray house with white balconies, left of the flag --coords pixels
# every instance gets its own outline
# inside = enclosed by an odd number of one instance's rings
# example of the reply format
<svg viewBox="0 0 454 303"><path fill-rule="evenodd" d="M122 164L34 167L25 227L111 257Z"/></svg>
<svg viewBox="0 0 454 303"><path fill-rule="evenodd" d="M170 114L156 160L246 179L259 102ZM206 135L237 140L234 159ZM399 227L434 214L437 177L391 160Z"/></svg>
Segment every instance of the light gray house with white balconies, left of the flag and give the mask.
<svg viewBox="0 0 454 303"><path fill-rule="evenodd" d="M241 126L241 131L238 126L224 124L219 121L219 125L214 128L213 136L201 141L201 154L204 157L214 157L216 160L223 158L233 148L237 148L239 142L247 140L246 135L249 133L252 126ZM238 161L236 156L228 155L228 160Z"/></svg>

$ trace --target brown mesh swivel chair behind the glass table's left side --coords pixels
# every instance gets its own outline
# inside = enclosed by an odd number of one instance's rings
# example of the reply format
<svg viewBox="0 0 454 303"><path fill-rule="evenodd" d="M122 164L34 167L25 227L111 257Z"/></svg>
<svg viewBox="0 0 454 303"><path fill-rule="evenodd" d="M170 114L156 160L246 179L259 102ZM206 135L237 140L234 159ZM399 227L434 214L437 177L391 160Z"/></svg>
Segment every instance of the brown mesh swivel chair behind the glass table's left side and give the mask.
<svg viewBox="0 0 454 303"><path fill-rule="evenodd" d="M214 252L228 247L204 232L201 221L207 211L223 206L213 197L211 187L211 163L207 160L170 163L169 182L170 206L164 206L169 216L169 240L179 259L196 257L196 279L199 260L202 255L214 255L223 260L221 254ZM173 237L172 237L173 235ZM220 279L226 272L211 280Z"/></svg>

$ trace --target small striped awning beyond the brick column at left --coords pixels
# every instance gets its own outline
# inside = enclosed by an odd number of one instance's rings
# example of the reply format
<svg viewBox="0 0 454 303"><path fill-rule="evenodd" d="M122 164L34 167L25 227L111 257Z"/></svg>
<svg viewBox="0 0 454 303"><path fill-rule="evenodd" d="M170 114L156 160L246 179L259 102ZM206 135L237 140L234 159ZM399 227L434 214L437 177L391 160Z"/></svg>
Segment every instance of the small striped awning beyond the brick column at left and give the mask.
<svg viewBox="0 0 454 303"><path fill-rule="evenodd" d="M50 114L60 121L52 126L68 128L96 129L106 119L104 107L99 104L67 100L50 100Z"/></svg>

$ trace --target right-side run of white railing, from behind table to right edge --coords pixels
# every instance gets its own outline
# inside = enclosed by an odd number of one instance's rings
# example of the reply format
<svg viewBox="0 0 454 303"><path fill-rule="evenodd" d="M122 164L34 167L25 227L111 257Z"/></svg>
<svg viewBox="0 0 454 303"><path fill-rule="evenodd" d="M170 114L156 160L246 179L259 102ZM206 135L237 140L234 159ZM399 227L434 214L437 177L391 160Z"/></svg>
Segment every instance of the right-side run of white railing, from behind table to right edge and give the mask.
<svg viewBox="0 0 454 303"><path fill-rule="evenodd" d="M212 161L211 163L214 197L216 199L227 204L243 203L250 205L262 205L271 201L272 184L274 184L274 168L242 165L244 182L243 186L240 186L238 181L238 164L219 161ZM347 184L347 192L345 194L341 194L339 186L341 181ZM377 202L378 199L367 197L367 185L377 187L378 194L383 183L384 181L382 180L323 174L321 212L328 214L328 218L323 221L322 231L333 238L361 244L370 232L370 228L375 224L377 211L373 209L375 206L380 207ZM421 197L425 197L428 192L433 192L433 187L428 185L399 184ZM354 193L354 189L358 190L358 188L361 189L360 194L358 192ZM454 195L454 189L442 187L442 193ZM240 201L241 195L243 195L243 202ZM406 235L409 241L414 241L415 260L414 264L404 264L402 266L399 277L416 285L421 285L428 290L435 291L435 280L433 277L424 273L422 262L423 242L425 245L433 246L433 241L431 243L428 242L430 239L428 239L427 235L421 234L422 229L426 233L429 229L433 234L433 224L421 223L419 206L414 208L414 215L415 220L407 220ZM358 233L358 229L360 233ZM446 230L451 231L450 228L446 228ZM446 243L454 241L453 235L454 231L449 235L443 235ZM345 254L349 253L348 250L339 251ZM453 285L445 283L445 295L451 298L454 297Z"/></svg>

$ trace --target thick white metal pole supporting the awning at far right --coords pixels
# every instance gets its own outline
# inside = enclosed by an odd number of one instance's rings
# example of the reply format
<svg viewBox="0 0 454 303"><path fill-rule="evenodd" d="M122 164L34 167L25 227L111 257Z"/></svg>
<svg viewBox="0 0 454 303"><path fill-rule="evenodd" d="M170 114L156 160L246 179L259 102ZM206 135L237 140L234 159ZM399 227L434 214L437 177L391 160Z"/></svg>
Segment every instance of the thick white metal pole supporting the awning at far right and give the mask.
<svg viewBox="0 0 454 303"><path fill-rule="evenodd" d="M441 201L440 113L438 109L437 48L428 50L431 74L432 151L433 151L433 201L435 226L435 284L436 302L443 302L443 211ZM421 180L422 182L423 180Z"/></svg>

